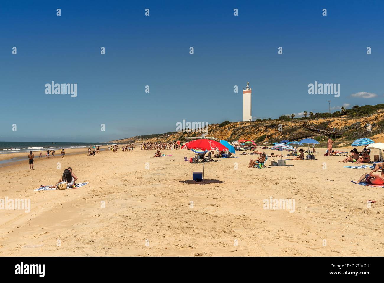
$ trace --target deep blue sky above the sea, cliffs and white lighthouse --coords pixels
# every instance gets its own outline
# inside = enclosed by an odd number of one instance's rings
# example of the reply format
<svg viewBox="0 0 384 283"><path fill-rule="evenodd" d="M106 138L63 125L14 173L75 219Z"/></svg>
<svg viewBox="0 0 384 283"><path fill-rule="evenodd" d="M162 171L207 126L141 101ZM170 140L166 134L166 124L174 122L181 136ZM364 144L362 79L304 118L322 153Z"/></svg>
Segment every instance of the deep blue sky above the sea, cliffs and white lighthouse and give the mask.
<svg viewBox="0 0 384 283"><path fill-rule="evenodd" d="M327 112L327 100L383 103L383 9L381 1L0 2L0 141L109 141L175 131L182 120L240 121L247 81L255 119ZM51 81L77 83L77 97L45 94ZM315 81L340 83L340 97L309 95ZM377 96L351 97L359 92Z"/></svg>

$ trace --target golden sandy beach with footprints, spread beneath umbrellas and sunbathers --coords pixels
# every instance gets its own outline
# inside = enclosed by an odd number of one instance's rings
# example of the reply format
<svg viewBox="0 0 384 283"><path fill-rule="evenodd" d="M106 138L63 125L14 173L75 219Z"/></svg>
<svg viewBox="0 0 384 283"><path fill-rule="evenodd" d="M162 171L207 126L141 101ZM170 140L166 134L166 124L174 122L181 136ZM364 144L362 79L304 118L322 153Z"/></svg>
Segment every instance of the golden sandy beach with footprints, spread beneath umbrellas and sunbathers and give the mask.
<svg viewBox="0 0 384 283"><path fill-rule="evenodd" d="M96 156L76 149L35 157L31 171L28 161L4 166L1 198L30 199L31 209L0 210L0 255L383 256L383 189L350 183L370 170L316 150L318 160L263 169L248 169L252 155L237 151L206 163L204 183L192 181L203 165L184 161L189 150L151 158L138 147ZM89 184L33 191L68 166ZM264 209L271 197L295 199L294 212ZM367 200L377 202L368 208Z"/></svg>

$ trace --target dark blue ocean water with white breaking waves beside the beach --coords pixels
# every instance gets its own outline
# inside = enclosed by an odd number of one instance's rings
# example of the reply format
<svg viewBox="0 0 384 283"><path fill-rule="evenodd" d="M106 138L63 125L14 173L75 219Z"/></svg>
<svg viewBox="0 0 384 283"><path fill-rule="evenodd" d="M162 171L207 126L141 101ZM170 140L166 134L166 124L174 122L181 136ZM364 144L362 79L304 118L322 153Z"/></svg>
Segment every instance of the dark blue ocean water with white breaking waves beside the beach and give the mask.
<svg viewBox="0 0 384 283"><path fill-rule="evenodd" d="M91 143L66 143L66 142L41 142L41 141L0 141L0 154L1 153L14 153L14 152L34 152L55 150L58 151L57 155L60 155L59 150L62 148L86 148L88 146L95 145L113 145L114 143L105 142L91 142ZM12 148L12 149L11 149Z"/></svg>

